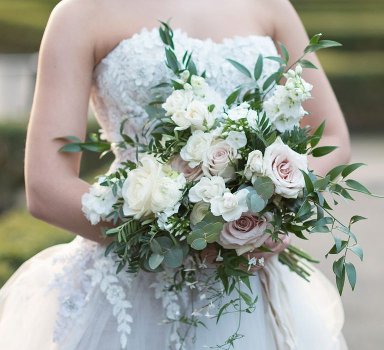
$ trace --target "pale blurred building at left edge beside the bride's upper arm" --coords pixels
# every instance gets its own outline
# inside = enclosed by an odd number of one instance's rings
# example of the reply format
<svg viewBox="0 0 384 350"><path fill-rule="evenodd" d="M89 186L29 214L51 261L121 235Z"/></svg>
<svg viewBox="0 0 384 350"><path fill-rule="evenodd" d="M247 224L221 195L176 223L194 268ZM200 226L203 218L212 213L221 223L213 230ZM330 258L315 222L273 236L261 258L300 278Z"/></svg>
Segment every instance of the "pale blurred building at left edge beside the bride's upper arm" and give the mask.
<svg viewBox="0 0 384 350"><path fill-rule="evenodd" d="M0 119L28 117L36 68L37 53L0 54Z"/></svg>

